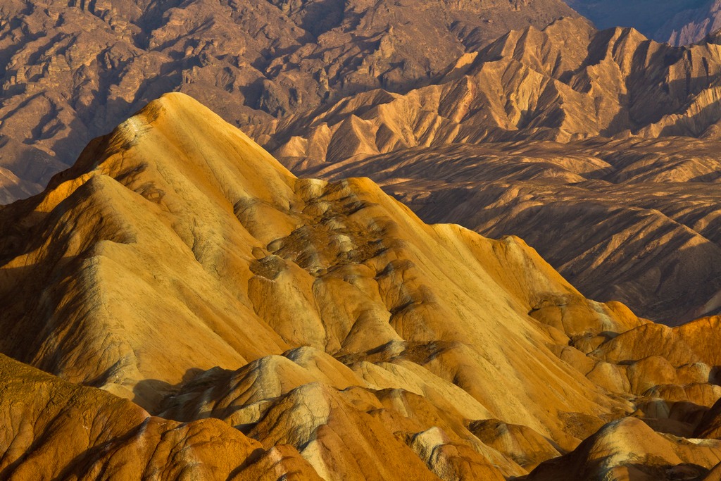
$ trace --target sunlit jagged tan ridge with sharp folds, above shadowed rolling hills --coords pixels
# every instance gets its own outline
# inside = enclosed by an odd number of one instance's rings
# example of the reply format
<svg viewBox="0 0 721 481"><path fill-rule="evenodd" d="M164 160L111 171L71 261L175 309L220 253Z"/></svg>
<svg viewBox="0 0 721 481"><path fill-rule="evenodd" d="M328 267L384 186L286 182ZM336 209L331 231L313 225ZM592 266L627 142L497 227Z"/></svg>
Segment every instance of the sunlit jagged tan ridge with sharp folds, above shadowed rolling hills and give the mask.
<svg viewBox="0 0 721 481"><path fill-rule="evenodd" d="M291 167L489 141L717 138L720 78L713 41L671 47L568 18L509 32L431 85L363 92L249 133Z"/></svg>

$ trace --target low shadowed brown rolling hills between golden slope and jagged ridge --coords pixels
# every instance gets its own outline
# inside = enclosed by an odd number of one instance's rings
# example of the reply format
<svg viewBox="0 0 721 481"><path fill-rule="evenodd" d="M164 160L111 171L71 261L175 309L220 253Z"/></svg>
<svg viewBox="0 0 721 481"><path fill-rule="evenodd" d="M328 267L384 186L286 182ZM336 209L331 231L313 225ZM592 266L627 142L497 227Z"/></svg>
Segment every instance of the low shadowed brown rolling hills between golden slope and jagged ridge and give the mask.
<svg viewBox="0 0 721 481"><path fill-rule="evenodd" d="M585 295L668 324L721 309L718 141L406 149L299 169L368 175L425 221L518 234Z"/></svg>

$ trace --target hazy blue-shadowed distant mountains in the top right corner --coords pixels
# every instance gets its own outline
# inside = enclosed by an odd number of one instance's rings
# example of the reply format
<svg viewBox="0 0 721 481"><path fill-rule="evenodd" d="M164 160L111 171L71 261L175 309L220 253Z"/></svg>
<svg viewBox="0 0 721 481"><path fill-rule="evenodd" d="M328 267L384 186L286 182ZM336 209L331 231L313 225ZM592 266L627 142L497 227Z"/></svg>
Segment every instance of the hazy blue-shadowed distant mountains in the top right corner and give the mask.
<svg viewBox="0 0 721 481"><path fill-rule="evenodd" d="M689 45L721 29L720 0L567 0L598 28L634 27L647 37Z"/></svg>

